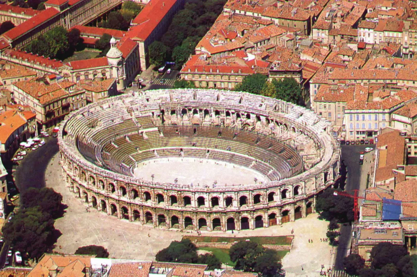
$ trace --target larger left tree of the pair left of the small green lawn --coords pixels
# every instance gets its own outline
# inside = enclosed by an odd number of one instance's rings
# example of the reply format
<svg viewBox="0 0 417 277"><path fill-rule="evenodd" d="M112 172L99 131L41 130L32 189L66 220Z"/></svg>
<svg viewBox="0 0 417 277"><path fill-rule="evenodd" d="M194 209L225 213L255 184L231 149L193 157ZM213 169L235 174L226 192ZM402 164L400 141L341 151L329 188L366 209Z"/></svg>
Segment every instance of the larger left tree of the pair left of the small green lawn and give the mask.
<svg viewBox="0 0 417 277"><path fill-rule="evenodd" d="M167 248L159 251L155 259L158 262L196 263L197 247L191 240L173 241Z"/></svg>

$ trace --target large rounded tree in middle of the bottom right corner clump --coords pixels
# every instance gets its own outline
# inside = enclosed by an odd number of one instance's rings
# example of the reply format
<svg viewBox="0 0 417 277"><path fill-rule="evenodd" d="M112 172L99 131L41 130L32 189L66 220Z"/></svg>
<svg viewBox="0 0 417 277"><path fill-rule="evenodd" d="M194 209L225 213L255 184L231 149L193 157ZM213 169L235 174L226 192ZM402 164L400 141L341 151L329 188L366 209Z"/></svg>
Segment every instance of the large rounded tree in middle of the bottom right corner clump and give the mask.
<svg viewBox="0 0 417 277"><path fill-rule="evenodd" d="M371 250L371 265L375 269L382 269L384 265L394 264L408 255L407 248L393 245L391 242L380 242Z"/></svg>

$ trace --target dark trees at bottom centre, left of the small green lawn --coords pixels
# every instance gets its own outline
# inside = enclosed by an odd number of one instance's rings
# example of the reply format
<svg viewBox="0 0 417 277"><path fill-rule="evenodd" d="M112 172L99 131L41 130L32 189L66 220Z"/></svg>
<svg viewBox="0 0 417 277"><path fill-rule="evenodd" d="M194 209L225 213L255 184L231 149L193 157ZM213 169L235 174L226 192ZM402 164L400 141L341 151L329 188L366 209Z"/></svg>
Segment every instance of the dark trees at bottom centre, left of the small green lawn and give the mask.
<svg viewBox="0 0 417 277"><path fill-rule="evenodd" d="M173 241L171 244L160 250L155 259L158 262L184 262L207 264L210 270L221 268L220 260L212 254L197 255L197 247L191 240Z"/></svg>

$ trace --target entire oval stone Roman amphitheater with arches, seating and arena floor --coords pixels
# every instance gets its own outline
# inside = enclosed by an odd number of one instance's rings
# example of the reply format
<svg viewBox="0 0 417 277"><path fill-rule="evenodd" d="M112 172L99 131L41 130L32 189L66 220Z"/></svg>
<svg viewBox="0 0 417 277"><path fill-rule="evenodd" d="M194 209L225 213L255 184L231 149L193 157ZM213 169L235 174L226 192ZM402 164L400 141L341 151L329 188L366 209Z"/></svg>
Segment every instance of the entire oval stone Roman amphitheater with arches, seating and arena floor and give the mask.
<svg viewBox="0 0 417 277"><path fill-rule="evenodd" d="M172 230L265 228L314 212L339 177L332 126L243 92L124 94L71 113L58 142L75 195L110 216Z"/></svg>

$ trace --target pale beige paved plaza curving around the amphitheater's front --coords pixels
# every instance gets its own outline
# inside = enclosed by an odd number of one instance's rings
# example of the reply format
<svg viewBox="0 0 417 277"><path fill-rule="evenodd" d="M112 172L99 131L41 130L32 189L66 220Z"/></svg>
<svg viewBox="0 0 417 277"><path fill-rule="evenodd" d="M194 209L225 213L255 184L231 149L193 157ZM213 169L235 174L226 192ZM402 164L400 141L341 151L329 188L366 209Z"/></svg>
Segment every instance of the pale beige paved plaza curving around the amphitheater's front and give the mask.
<svg viewBox="0 0 417 277"><path fill-rule="evenodd" d="M155 254L167 247L172 240L181 240L183 233L162 229L153 229L140 223L128 222L108 216L90 208L81 199L75 198L61 177L61 168L56 154L46 170L46 185L63 195L64 204L68 205L63 218L55 222L55 228L62 232L55 251L66 254L74 253L83 245L102 245L110 257L123 259L153 260ZM332 265L332 247L320 238L326 237L327 222L318 220L317 214L301 218L296 222L285 223L270 228L243 230L240 232L202 232L213 236L251 236L251 235L291 235L294 230L293 247L282 260L287 276L319 276L321 265L327 269ZM196 233L193 233L197 235ZM191 234L191 235L193 235ZM190 235L190 234L187 234ZM313 242L309 243L309 239Z"/></svg>

